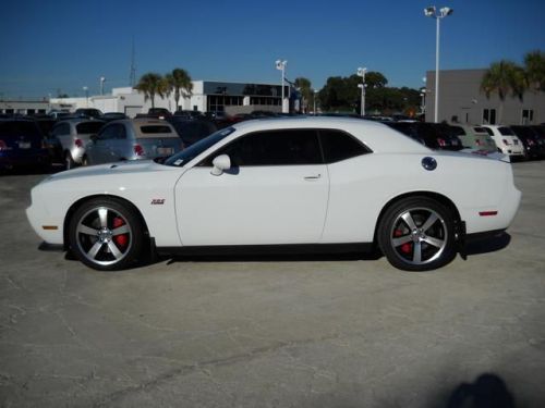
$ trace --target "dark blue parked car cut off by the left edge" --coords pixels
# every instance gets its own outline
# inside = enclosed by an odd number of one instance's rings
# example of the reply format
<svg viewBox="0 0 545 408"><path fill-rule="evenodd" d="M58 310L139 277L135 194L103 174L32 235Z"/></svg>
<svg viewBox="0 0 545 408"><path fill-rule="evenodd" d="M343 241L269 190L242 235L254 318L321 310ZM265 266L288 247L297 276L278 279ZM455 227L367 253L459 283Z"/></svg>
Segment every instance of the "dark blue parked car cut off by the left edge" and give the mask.
<svg viewBox="0 0 545 408"><path fill-rule="evenodd" d="M0 119L0 169L47 169L49 165L49 154L36 122Z"/></svg>

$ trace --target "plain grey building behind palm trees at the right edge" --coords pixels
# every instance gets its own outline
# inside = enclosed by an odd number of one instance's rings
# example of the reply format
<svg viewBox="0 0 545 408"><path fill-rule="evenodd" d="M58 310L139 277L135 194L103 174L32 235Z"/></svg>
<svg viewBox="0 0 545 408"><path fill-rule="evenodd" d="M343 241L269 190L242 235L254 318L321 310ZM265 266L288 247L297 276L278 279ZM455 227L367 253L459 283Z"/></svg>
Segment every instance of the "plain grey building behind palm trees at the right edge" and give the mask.
<svg viewBox="0 0 545 408"><path fill-rule="evenodd" d="M497 92L489 98L481 91L486 70L439 71L439 122L468 124L545 123L545 92L526 90L522 99L508 95L501 101ZM435 71L426 74L426 122L435 115Z"/></svg>

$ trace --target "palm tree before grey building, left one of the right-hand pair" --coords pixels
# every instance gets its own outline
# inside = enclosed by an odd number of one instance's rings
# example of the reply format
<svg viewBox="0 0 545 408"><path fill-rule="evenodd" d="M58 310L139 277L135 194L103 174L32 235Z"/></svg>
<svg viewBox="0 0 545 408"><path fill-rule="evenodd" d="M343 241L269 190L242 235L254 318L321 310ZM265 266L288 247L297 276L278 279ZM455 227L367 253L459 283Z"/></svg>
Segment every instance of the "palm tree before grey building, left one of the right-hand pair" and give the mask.
<svg viewBox="0 0 545 408"><path fill-rule="evenodd" d="M526 88L524 70L514 62L507 60L491 64L481 81L481 91L486 95L486 98L489 98L491 94L497 94L499 97L499 123L501 123L506 97L511 94L522 100Z"/></svg>

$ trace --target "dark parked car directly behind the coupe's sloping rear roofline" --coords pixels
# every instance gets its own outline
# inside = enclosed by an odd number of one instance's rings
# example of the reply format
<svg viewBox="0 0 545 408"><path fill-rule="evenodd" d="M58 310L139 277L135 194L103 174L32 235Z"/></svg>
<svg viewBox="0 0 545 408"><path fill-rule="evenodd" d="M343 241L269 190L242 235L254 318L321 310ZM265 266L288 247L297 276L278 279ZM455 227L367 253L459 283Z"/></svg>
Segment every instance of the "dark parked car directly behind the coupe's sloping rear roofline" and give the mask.
<svg viewBox="0 0 545 408"><path fill-rule="evenodd" d="M449 125L427 122L384 122L386 125L412 137L431 149L461 150L460 139L452 135Z"/></svg>

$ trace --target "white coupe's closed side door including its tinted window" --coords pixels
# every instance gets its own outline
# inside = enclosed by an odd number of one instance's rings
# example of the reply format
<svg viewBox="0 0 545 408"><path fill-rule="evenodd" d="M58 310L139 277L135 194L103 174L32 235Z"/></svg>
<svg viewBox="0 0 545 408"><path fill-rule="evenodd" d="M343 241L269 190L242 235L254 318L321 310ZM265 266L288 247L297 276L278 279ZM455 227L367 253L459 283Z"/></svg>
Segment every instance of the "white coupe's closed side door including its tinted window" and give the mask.
<svg viewBox="0 0 545 408"><path fill-rule="evenodd" d="M228 154L216 176L211 161ZM175 186L184 246L276 245L319 242L329 180L317 132L251 133L186 171Z"/></svg>

